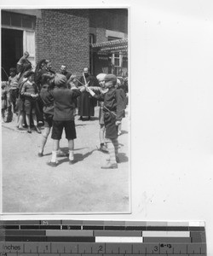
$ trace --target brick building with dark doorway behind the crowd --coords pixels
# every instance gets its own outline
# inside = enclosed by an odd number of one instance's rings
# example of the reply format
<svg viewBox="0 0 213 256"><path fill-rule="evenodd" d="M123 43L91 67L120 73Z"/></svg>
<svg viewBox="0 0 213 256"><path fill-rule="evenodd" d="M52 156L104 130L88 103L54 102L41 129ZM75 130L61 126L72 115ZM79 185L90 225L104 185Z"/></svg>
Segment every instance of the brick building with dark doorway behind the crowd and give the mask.
<svg viewBox="0 0 213 256"><path fill-rule="evenodd" d="M83 67L120 74L122 66L127 69L127 50L95 46L127 37L127 9L2 9L2 80L26 50L33 66L46 58L55 72L66 64L77 75Z"/></svg>

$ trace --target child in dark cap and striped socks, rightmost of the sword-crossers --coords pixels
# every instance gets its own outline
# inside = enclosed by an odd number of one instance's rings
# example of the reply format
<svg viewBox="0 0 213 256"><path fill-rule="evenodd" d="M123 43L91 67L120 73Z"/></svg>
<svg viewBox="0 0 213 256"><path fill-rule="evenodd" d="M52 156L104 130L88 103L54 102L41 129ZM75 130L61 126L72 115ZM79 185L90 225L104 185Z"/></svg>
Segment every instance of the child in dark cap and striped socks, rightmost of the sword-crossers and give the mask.
<svg viewBox="0 0 213 256"><path fill-rule="evenodd" d="M98 100L104 101L104 124L106 128L106 143L110 154L110 159L106 166L101 166L102 169L118 168L118 125L121 123L124 102L120 96L119 90L116 90L117 78L113 74L107 74L104 78L105 87L108 88L107 93L100 96L87 87L91 96L95 96Z"/></svg>

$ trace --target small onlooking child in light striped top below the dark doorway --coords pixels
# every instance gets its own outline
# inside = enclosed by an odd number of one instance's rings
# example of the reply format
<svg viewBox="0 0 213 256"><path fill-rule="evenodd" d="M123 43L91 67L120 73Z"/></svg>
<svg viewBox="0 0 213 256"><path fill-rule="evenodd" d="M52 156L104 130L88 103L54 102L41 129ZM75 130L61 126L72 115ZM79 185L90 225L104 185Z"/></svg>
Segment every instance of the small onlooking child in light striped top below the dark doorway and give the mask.
<svg viewBox="0 0 213 256"><path fill-rule="evenodd" d="M13 105L13 111L15 111L15 102L19 95L18 81L19 75L16 74L16 69L14 67L9 68L9 101Z"/></svg>

